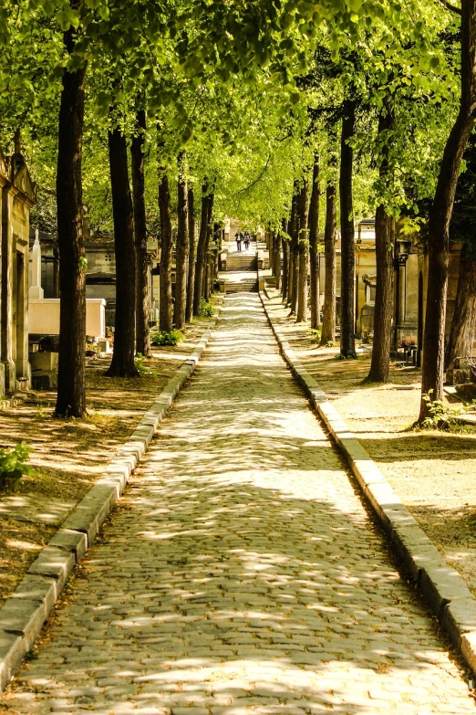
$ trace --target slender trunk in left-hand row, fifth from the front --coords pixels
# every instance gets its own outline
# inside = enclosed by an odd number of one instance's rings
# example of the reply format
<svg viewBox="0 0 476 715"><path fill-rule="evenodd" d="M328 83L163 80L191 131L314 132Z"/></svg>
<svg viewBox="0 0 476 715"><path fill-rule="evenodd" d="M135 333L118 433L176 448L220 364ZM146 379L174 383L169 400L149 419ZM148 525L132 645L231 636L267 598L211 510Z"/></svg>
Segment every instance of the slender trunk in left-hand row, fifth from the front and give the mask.
<svg viewBox="0 0 476 715"><path fill-rule="evenodd" d="M187 226L187 178L185 173L185 152L179 156L178 224L177 244L175 248L175 304L173 321L181 330L185 325L185 306L187 301L187 258L189 256L189 237Z"/></svg>

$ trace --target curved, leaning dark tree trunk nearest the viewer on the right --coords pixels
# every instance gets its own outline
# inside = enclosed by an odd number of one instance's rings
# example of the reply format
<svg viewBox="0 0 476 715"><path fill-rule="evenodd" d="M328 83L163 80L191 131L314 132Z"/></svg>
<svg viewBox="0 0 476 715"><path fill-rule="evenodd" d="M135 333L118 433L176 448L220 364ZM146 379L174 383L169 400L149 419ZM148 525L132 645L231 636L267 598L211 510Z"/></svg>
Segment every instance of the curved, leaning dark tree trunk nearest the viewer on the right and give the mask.
<svg viewBox="0 0 476 715"><path fill-rule="evenodd" d="M431 401L443 399L444 337L450 220L463 152L476 115L476 0L461 0L460 112L446 143L435 198L429 212L429 274L421 366L418 422L430 415Z"/></svg>

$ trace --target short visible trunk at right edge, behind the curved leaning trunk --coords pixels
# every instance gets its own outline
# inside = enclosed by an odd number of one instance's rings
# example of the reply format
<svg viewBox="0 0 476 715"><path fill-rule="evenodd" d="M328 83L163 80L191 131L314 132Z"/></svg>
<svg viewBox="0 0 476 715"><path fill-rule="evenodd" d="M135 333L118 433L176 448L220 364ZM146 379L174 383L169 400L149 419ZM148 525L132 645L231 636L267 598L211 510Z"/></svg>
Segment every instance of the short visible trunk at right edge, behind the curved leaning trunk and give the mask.
<svg viewBox="0 0 476 715"><path fill-rule="evenodd" d="M445 369L457 357L471 357L474 330L476 328L476 255L468 244L463 244L460 253L460 276L450 339L445 351Z"/></svg>

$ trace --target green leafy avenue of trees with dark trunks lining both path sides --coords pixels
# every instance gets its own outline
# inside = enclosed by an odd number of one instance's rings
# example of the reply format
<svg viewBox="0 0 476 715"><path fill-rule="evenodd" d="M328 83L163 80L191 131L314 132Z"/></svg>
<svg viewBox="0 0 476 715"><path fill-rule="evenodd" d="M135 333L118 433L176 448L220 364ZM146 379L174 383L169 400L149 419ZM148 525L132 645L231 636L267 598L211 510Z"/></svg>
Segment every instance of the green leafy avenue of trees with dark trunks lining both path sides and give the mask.
<svg viewBox="0 0 476 715"><path fill-rule="evenodd" d="M317 328L325 293L323 344L335 339L340 230L340 351L355 358L355 228L375 216L367 379L388 382L393 250L418 231L429 255L422 397L442 399L445 364L468 349L476 318L474 223L459 210L474 185L476 0L0 0L0 44L0 141L21 135L34 220L57 232L57 416L86 412L86 218L114 235L118 376L150 353L148 237L160 240L160 330L182 328L210 293L227 215L270 232L297 321ZM445 346L452 238L464 248ZM420 421L429 407L422 399Z"/></svg>

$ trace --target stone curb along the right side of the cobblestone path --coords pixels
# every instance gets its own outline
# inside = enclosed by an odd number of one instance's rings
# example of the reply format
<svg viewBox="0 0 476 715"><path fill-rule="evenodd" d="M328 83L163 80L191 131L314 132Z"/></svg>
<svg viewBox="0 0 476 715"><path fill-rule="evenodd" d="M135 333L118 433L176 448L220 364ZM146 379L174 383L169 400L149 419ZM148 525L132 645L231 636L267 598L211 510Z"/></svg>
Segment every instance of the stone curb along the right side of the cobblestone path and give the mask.
<svg viewBox="0 0 476 715"><path fill-rule="evenodd" d="M285 362L346 457L364 497L378 516L410 579L438 617L452 644L458 648L471 670L476 672L476 599L460 574L445 562L419 527L367 450L329 402L324 390L299 362L283 332L274 325L262 291L260 299Z"/></svg>

